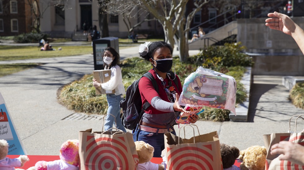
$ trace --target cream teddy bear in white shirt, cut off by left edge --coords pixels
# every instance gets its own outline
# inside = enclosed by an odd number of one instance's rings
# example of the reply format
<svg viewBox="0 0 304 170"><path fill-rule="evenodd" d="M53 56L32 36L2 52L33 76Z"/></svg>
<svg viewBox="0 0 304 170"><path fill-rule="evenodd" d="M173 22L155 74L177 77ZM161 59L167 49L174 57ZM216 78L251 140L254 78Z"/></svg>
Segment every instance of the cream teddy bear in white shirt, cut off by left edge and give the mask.
<svg viewBox="0 0 304 170"><path fill-rule="evenodd" d="M0 169L1 170L14 170L15 169L14 167L23 167L25 162L29 161L29 157L27 155L20 155L18 158L11 159L6 157L7 154L8 154L8 143L6 140L0 139Z"/></svg>

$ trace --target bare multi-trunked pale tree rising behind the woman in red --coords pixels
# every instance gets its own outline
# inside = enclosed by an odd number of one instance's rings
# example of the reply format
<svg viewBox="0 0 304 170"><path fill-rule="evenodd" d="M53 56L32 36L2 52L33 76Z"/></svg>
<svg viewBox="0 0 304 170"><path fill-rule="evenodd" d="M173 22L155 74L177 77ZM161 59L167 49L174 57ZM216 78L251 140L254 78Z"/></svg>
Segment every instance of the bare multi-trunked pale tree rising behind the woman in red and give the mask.
<svg viewBox="0 0 304 170"><path fill-rule="evenodd" d="M165 41L174 47L177 43L179 49L179 58L185 61L189 57L188 52L188 33L190 24L196 12L209 0L194 1L195 8L186 15L186 5L188 0L163 0L163 1L145 1L132 0L142 8L148 10L163 26Z"/></svg>

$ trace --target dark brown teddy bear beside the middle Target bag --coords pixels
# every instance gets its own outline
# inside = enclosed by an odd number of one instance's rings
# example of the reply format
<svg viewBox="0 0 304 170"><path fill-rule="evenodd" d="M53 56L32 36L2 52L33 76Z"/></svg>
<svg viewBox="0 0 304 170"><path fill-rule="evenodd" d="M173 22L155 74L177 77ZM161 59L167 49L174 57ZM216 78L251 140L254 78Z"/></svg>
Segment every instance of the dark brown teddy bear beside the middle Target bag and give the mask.
<svg viewBox="0 0 304 170"><path fill-rule="evenodd" d="M239 170L239 167L234 165L235 160L239 157L239 149L224 143L221 143L220 148L224 170Z"/></svg>

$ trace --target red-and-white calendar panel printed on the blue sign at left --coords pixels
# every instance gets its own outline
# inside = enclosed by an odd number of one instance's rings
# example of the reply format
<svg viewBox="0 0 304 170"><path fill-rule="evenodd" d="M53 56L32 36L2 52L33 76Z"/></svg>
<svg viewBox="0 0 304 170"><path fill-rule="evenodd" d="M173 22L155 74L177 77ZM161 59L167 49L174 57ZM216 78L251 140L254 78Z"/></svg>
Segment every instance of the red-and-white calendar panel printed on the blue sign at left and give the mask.
<svg viewBox="0 0 304 170"><path fill-rule="evenodd" d="M0 139L13 140L13 134L11 133L11 127L8 123L6 112L1 109L0 112Z"/></svg>

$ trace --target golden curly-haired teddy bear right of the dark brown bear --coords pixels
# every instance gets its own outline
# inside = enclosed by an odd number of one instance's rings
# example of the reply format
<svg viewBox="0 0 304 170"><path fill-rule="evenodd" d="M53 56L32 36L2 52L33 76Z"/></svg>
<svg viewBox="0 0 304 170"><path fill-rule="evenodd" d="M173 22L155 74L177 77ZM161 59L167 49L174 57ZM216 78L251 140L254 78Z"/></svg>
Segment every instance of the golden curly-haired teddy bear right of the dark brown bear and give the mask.
<svg viewBox="0 0 304 170"><path fill-rule="evenodd" d="M239 168L241 170L264 170L266 154L266 147L257 145L240 151L239 159L243 162Z"/></svg>

